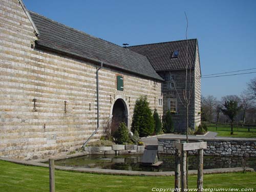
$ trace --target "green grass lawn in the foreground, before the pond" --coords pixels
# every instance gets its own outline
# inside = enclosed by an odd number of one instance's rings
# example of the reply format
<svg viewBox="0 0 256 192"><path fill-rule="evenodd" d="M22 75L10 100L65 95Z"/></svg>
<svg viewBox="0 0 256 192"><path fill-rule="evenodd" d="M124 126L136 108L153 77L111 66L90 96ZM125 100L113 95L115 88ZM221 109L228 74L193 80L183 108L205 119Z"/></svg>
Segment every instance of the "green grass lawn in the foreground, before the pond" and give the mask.
<svg viewBox="0 0 256 192"><path fill-rule="evenodd" d="M189 177L189 187L196 187L197 176ZM152 191L170 188L174 177L115 176L55 171L56 192L71 191ZM212 174L204 176L204 188L254 188L256 173ZM0 161L0 191L49 191L49 169Z"/></svg>

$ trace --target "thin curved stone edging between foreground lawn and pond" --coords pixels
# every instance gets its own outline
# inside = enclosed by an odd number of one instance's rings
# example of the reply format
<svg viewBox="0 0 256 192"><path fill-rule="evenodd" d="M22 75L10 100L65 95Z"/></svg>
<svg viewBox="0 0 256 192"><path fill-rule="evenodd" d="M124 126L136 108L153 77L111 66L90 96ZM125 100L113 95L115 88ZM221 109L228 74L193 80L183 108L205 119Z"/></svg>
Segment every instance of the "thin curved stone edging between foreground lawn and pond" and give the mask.
<svg viewBox="0 0 256 192"><path fill-rule="evenodd" d="M12 163L22 164L22 165L31 165L31 166L40 166L40 167L49 167L48 164L39 163L36 161L24 161L16 160L9 158L0 158L3 161L9 161ZM114 169L99 169L99 168L83 168L83 167L68 167L68 166L56 166L55 169L58 170L67 170L73 172L81 173L96 173L96 174L108 174L108 175L127 175L127 176L174 176L174 172L139 172L134 170L114 170ZM221 173L233 173L233 172L243 172L242 167L234 168L215 168L215 169L204 169L204 174L221 174ZM254 172L253 168L246 167L247 172ZM188 170L189 175L196 175L197 170Z"/></svg>

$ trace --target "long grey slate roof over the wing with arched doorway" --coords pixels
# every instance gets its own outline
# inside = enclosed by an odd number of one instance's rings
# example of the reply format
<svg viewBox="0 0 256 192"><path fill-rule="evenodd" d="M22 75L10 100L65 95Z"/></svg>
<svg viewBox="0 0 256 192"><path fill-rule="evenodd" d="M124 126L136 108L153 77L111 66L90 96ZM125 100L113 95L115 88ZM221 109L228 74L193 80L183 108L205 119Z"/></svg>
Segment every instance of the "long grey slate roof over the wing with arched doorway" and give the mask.
<svg viewBox="0 0 256 192"><path fill-rule="evenodd" d="M71 54L89 60L103 61L103 66L118 68L133 74L163 80L143 55L109 41L59 24L34 12L29 12L40 35L36 46Z"/></svg>

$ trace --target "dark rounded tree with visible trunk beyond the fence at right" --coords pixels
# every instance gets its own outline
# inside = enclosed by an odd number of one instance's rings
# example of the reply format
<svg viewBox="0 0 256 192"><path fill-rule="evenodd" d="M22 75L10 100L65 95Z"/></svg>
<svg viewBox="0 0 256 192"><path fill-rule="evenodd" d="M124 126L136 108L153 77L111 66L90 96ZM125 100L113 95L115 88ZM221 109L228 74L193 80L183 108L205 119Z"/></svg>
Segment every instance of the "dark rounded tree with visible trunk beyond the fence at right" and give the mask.
<svg viewBox="0 0 256 192"><path fill-rule="evenodd" d="M225 101L224 103L224 109L221 109L222 113L229 117L231 120L231 135L233 135L233 122L234 118L237 116L238 112L240 110L240 107L238 106L238 102L230 99Z"/></svg>

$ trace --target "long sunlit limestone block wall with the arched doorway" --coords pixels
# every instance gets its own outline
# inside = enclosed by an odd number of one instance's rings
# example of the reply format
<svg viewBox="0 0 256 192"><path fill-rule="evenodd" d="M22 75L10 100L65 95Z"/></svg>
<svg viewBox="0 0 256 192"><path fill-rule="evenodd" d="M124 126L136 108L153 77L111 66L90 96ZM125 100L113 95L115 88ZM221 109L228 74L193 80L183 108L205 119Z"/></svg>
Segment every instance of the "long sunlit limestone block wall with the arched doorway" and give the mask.
<svg viewBox="0 0 256 192"><path fill-rule="evenodd" d="M18 0L0 0L0 23L0 156L36 159L78 150L97 126L99 66L31 48L37 37ZM124 77L123 92L116 89L116 74ZM162 115L157 102L162 97L160 82L103 66L100 130L93 140L102 135L117 98L126 103L131 124L141 95L147 95L151 109Z"/></svg>

